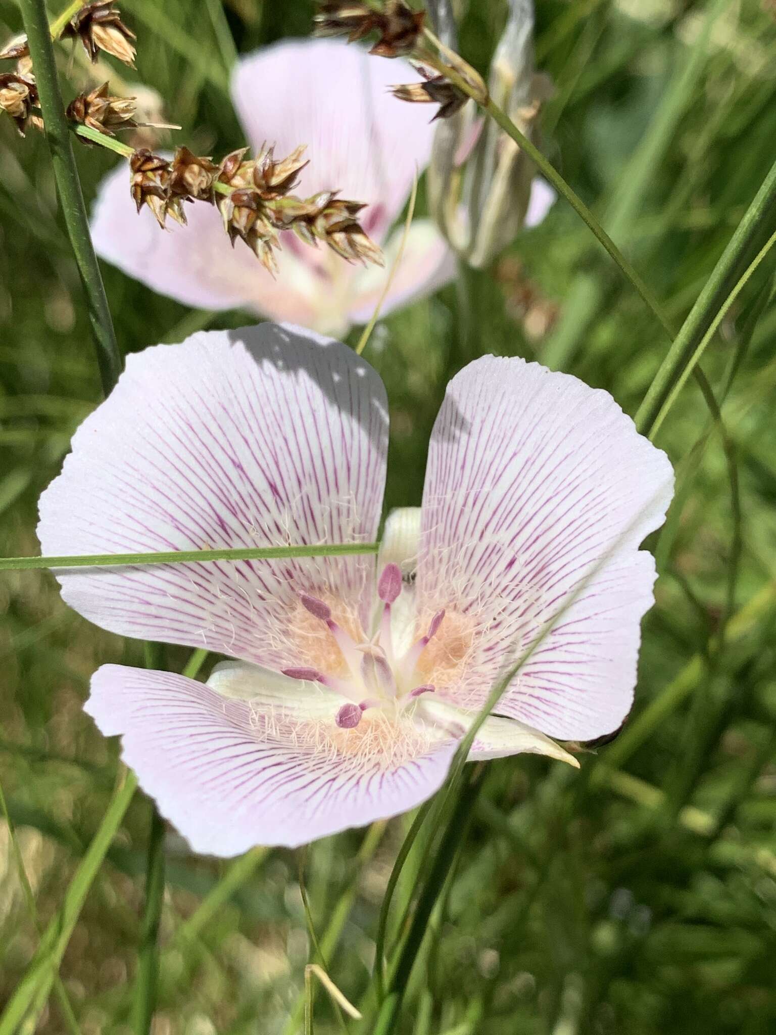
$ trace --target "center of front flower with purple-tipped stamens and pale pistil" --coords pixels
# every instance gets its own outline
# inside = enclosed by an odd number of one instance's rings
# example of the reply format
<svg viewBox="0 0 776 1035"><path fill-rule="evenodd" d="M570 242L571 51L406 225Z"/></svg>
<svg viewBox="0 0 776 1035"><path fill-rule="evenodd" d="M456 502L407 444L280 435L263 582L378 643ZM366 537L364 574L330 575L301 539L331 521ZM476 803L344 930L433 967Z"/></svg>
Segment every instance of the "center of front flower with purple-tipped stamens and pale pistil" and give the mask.
<svg viewBox="0 0 776 1035"><path fill-rule="evenodd" d="M321 656L321 668L300 666L283 669L292 679L322 683L349 699L336 715L336 724L352 730L359 724L369 708L397 713L414 703L421 693L432 693L435 686L423 677L419 662L423 651L437 637L445 612L431 618L426 632L404 652L396 650L391 623L391 608L402 590L401 571L397 564L387 564L378 581L379 610L375 632L370 638L359 628L346 629L335 621L331 607L317 596L301 594L304 612L315 620L320 631L328 630L336 645L336 661L332 651ZM327 638L328 639L328 638ZM329 662L329 663L327 663ZM344 662L344 663L342 663Z"/></svg>

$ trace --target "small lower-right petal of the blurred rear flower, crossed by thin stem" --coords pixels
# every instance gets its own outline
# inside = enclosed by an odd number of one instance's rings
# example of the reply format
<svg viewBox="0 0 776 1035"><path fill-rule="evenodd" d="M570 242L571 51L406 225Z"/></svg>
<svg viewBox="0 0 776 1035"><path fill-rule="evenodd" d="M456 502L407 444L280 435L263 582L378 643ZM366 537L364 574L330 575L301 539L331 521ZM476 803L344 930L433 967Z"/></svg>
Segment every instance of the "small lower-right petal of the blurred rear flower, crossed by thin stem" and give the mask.
<svg viewBox="0 0 776 1035"><path fill-rule="evenodd" d="M354 299L350 318L355 324L368 323L388 278L401 240L404 227L394 230L385 248L385 268L369 266L353 282ZM455 276L455 256L430 219L415 219L407 235L401 261L381 307L387 316L415 298L430 295Z"/></svg>

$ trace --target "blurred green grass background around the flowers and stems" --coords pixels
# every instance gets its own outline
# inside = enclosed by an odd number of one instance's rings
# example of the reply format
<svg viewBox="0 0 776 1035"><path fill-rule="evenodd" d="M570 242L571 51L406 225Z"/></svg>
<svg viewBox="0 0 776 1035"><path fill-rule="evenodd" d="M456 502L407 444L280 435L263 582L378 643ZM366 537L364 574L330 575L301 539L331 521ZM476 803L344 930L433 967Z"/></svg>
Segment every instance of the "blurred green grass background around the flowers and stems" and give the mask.
<svg viewBox="0 0 776 1035"><path fill-rule="evenodd" d="M232 47L249 52L307 35L312 14L303 0L120 6L139 55L137 72L112 65L116 92L133 93L138 83L156 90L182 124L178 138L205 154L243 143L229 100ZM461 53L482 72L505 6L457 5ZM556 84L545 152L678 324L776 157L776 4L537 7L537 63ZM0 35L20 28L6 0ZM68 96L108 78L68 55L60 48ZM112 156L79 147L78 161L91 200ZM0 550L30 555L37 497L99 400L99 383L46 145L34 131L19 139L7 118L0 210ZM680 489L668 531L652 542L661 580L644 624L631 720L613 744L584 756L580 774L538 759L489 765L408 990L404 1032L776 1031L772 269L763 264L704 358L718 396L732 381L723 412L741 521L719 435L690 383L658 437ZM125 352L253 319L191 310L113 267L103 272ZM632 414L666 351L653 316L559 202L491 268L462 273L458 285L379 323L365 356L392 407L387 504L419 502L444 386L474 356L539 359L608 389ZM720 637L728 603L733 620ZM89 676L102 661L142 663L142 646L67 611L46 572L0 574L0 778L46 922L117 775L115 742L81 711ZM171 667L185 657L166 653ZM85 1035L131 1030L150 816L138 794L63 959ZM329 943L332 977L354 1001L368 980L378 910L410 819L366 839L351 831L318 842L306 859L319 934L332 918L339 923ZM255 853L235 868L192 856L174 831L166 851L155 1035L300 1032L294 1011L308 938L298 859ZM422 865L422 851L411 856L397 916ZM2 823L0 1000L36 944ZM54 998L38 1030L68 1030ZM320 995L317 1031L335 1030Z"/></svg>

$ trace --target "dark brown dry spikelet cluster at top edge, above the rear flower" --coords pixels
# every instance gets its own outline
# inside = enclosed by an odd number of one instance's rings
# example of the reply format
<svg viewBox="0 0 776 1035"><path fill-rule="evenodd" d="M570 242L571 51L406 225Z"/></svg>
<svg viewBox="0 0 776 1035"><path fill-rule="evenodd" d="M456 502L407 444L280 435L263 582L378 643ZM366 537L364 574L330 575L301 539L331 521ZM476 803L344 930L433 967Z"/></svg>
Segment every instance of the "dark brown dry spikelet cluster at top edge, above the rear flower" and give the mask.
<svg viewBox="0 0 776 1035"><path fill-rule="evenodd" d="M316 14L316 32L320 36L347 35L348 42L378 32L380 38L369 53L396 58L416 49L424 19L423 11L412 10L404 0L388 0L382 11L365 3L324 0Z"/></svg>

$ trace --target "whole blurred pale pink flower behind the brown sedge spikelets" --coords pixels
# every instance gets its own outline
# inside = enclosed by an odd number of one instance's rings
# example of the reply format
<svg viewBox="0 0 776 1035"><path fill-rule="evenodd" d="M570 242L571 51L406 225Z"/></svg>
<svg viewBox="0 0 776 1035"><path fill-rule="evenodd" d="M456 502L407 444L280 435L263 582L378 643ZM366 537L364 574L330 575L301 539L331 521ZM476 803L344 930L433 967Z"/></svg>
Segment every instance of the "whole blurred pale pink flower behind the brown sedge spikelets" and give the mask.
<svg viewBox="0 0 776 1035"><path fill-rule="evenodd" d="M397 67L399 66L399 67ZM404 67L400 67L404 66ZM92 220L97 252L160 294L201 308L252 309L341 334L366 323L383 292L402 228L389 234L413 178L425 169L435 127L422 106L402 105L389 87L417 72L401 59L369 56L339 39L287 41L242 58L232 81L235 108L255 150L278 155L306 144L309 165L297 193L338 190L363 202L363 229L384 246L386 269L349 265L293 233L281 237L273 279L249 250L232 248L218 212L186 207L188 226L160 233L150 212L136 212L125 166L102 182ZM543 218L555 195L536 181L527 225ZM383 313L429 294L454 273L452 254L430 219L415 219Z"/></svg>

